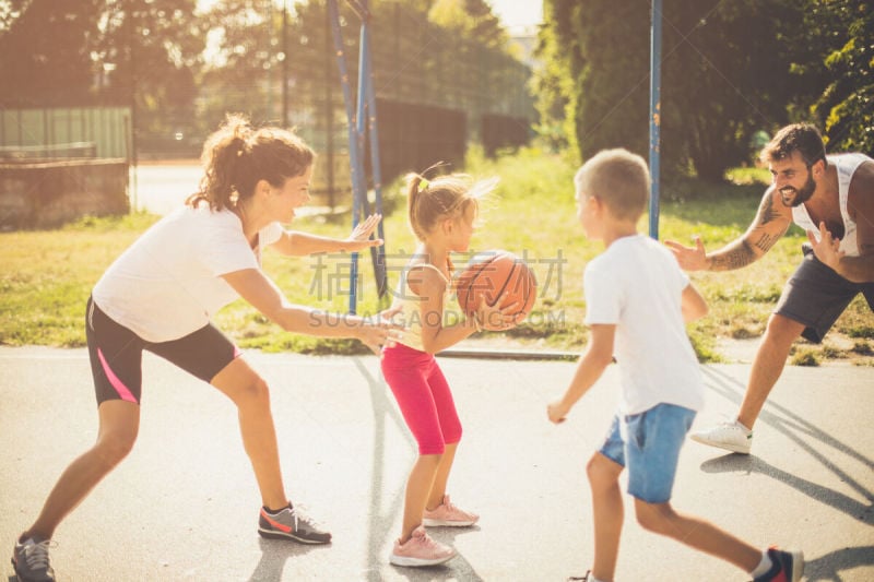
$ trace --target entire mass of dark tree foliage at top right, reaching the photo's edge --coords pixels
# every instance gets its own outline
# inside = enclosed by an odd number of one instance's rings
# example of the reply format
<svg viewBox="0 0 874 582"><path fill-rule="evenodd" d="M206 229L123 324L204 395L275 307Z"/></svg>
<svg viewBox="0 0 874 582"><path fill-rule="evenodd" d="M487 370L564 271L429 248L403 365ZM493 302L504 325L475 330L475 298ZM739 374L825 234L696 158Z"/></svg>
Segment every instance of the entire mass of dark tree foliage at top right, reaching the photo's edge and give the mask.
<svg viewBox="0 0 874 582"><path fill-rule="evenodd" d="M616 145L646 152L649 9L545 0L534 86L553 143L577 144L581 157ZM721 180L751 161L756 132L793 120L818 122L831 150L874 150L870 2L664 0L660 17L663 175Z"/></svg>

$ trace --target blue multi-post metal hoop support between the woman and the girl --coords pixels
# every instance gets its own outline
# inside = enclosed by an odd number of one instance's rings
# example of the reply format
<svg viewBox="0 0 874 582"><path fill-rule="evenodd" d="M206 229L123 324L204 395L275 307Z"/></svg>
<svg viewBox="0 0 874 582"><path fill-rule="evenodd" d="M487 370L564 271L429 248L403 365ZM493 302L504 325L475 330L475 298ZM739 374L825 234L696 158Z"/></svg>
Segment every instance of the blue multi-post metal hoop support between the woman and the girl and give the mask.
<svg viewBox="0 0 874 582"><path fill-rule="evenodd" d="M346 120L349 123L349 154L350 165L352 166L352 227L358 225L362 218L362 211L369 212L367 202L367 177L365 176L365 133L370 132L370 165L374 174L374 189L376 192L376 212L382 213L382 185L379 168L379 141L376 131L376 92L373 83L373 64L370 62L370 12L367 0L347 0L352 9L362 20L361 41L358 46L358 99L357 108L353 110L352 87L350 86L349 70L344 54L343 36L340 29L340 11L336 0L328 0L328 13L331 20L331 31L333 33L334 49L336 52L336 63L340 68L340 83L343 87L343 103L346 108ZM379 223L378 237L385 240L382 223ZM383 297L387 290L386 277L386 249L385 245L370 248L370 257L374 262L374 273L377 281L379 297ZM357 281L358 281L358 253L353 252L350 259L350 297L349 311L355 313L357 304Z"/></svg>

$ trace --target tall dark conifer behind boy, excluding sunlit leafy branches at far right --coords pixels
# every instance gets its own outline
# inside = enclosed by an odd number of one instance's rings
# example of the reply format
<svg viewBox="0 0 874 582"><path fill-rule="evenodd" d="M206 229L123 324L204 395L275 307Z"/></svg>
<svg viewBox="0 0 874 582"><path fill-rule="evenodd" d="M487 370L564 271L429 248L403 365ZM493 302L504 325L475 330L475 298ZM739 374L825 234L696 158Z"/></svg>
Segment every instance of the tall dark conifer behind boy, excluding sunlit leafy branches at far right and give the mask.
<svg viewBox="0 0 874 582"><path fill-rule="evenodd" d="M790 75L781 31L802 22L789 0L666 0L662 19L660 121L668 178L721 180L747 162L749 139L782 123L787 104L807 94ZM648 150L649 5L630 0L546 0L541 47L547 58L541 114L566 105L568 143L584 158L624 146ZM565 79L560 79L564 75ZM555 127L553 124L552 127ZM565 126L567 127L567 126Z"/></svg>

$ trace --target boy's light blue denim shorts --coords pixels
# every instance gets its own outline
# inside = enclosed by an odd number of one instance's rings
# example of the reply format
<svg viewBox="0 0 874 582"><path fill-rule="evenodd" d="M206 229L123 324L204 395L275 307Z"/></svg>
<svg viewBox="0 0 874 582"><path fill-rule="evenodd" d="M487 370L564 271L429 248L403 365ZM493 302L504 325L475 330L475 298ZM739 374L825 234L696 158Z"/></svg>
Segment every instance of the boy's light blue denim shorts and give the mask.
<svg viewBox="0 0 874 582"><path fill-rule="evenodd" d="M695 415L683 406L657 404L640 414L614 416L598 452L628 470L628 495L647 503L666 503Z"/></svg>

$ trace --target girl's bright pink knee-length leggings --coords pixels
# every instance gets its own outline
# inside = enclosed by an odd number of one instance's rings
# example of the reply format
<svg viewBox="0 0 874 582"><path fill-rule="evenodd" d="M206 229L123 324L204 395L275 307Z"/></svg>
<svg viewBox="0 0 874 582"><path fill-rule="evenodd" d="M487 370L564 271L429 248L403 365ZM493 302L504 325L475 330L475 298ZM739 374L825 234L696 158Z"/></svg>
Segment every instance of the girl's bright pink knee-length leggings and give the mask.
<svg viewBox="0 0 874 582"><path fill-rule="evenodd" d="M382 376L398 401L418 454L441 454L461 440L452 392L432 354L397 344L382 352Z"/></svg>

